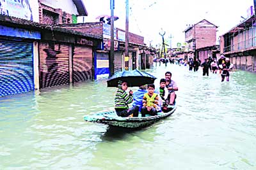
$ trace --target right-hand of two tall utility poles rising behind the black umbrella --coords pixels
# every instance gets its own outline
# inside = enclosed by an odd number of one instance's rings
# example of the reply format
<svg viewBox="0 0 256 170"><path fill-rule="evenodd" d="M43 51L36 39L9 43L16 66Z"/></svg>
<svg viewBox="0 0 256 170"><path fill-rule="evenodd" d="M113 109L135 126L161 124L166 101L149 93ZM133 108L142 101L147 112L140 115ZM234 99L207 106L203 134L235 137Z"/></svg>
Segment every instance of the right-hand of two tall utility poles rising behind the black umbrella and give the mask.
<svg viewBox="0 0 256 170"><path fill-rule="evenodd" d="M126 19L125 19L125 70L129 70L131 62L129 57L129 0L125 0L125 10L126 10Z"/></svg>

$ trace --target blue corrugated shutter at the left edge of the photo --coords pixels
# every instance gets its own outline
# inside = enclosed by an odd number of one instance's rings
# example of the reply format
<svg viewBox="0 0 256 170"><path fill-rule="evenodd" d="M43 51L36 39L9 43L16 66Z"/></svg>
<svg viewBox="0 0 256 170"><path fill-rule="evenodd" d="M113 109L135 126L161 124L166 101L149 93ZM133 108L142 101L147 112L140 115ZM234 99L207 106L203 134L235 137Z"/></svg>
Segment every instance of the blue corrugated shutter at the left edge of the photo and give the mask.
<svg viewBox="0 0 256 170"><path fill-rule="evenodd" d="M34 90L31 43L0 40L0 96Z"/></svg>

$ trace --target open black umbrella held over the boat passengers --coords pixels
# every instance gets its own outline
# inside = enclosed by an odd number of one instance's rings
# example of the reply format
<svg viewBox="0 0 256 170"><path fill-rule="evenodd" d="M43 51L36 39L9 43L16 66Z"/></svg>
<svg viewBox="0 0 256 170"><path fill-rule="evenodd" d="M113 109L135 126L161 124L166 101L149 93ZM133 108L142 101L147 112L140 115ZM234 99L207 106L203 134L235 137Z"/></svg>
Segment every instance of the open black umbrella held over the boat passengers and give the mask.
<svg viewBox="0 0 256 170"><path fill-rule="evenodd" d="M121 71L109 78L107 81L108 87L118 87L119 80L127 81L129 87L140 87L141 85L154 83L156 77L144 71L139 71L138 69Z"/></svg>

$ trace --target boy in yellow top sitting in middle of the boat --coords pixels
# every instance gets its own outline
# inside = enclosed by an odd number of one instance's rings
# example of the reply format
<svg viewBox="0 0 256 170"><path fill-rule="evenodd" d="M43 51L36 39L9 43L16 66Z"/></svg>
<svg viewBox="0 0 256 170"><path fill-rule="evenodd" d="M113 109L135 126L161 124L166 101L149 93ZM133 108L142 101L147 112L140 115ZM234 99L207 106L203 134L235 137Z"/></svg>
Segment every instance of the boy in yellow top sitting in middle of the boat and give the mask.
<svg viewBox="0 0 256 170"><path fill-rule="evenodd" d="M145 115L155 116L157 115L157 108L159 107L159 96L154 93L155 85L149 84L147 93L143 96L143 107L141 108L141 117Z"/></svg>

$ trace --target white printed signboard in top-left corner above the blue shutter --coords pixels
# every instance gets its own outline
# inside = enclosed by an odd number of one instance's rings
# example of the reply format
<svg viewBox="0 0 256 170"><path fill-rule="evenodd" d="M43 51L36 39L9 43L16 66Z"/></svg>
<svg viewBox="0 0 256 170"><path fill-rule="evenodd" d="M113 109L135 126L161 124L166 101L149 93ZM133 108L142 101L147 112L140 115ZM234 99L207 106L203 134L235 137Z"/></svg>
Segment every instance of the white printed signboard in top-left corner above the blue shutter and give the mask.
<svg viewBox="0 0 256 170"><path fill-rule="evenodd" d="M0 0L0 14L33 20L29 0Z"/></svg>

